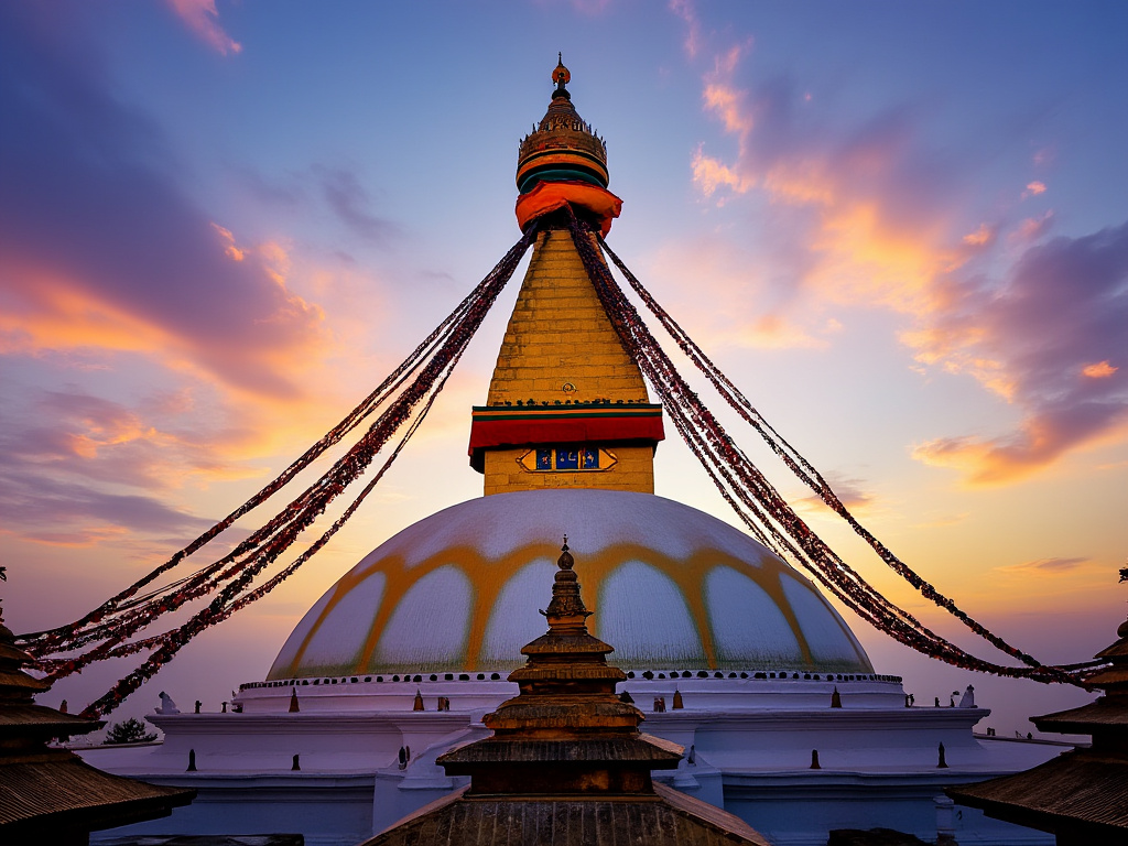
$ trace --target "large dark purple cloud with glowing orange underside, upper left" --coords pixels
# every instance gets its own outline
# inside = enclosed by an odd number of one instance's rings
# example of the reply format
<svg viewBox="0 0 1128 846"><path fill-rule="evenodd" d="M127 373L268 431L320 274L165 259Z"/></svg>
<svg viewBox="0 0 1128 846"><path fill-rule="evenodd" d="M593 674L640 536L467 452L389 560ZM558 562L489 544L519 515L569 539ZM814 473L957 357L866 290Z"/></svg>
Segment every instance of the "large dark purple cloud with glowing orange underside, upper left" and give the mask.
<svg viewBox="0 0 1128 846"><path fill-rule="evenodd" d="M96 56L0 29L0 351L143 351L297 398L326 343L320 308L188 197L166 138L107 94Z"/></svg>

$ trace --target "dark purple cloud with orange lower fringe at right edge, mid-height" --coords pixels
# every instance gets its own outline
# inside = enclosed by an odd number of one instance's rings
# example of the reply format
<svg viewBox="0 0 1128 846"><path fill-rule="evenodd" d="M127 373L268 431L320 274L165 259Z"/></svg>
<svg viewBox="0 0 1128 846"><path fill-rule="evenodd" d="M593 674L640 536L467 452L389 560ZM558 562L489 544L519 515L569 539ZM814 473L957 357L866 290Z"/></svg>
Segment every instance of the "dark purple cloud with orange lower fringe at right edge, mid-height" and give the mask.
<svg viewBox="0 0 1128 846"><path fill-rule="evenodd" d="M1010 434L923 443L918 459L993 484L1122 434L1128 379L1111 362L1123 358L1128 326L1128 223L1031 247L1002 291L968 289L934 320L924 354L1004 394L1024 417Z"/></svg>

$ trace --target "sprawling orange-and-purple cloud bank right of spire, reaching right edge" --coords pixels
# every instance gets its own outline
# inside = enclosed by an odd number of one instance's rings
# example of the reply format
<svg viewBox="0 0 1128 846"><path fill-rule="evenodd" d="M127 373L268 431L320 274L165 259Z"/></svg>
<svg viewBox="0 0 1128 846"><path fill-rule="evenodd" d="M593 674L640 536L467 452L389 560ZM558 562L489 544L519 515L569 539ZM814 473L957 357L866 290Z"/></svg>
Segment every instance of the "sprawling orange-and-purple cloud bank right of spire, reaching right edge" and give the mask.
<svg viewBox="0 0 1128 846"><path fill-rule="evenodd" d="M702 86L704 111L737 152L725 159L702 146L691 164L702 195L719 204L767 201L772 212L757 226L777 243L773 261L797 271L792 287L797 280L801 291L756 319L785 314L794 323L805 312L810 326L836 306L900 315L899 338L918 364L971 376L1022 413L1011 432L915 448L918 460L954 467L970 484L1011 482L1120 437L1128 223L1039 244L1047 211L1010 230L988 220L968 232L972 151L931 149L906 106L853 125L828 122L786 77L739 81L743 54L743 46L719 53ZM1040 194L1045 184L1026 190ZM993 250L999 241L1023 249L1017 261Z"/></svg>

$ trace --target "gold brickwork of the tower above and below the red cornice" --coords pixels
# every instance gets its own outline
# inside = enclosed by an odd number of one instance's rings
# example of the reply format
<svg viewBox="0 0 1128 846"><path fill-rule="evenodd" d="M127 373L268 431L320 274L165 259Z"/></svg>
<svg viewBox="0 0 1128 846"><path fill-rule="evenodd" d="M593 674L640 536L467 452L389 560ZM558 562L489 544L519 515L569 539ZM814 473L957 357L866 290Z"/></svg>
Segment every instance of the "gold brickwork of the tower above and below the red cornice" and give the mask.
<svg viewBox="0 0 1128 846"><path fill-rule="evenodd" d="M486 403L515 409L530 400L555 406L605 399L649 402L642 372L607 319L572 236L566 229L548 229L537 237ZM519 462L527 447L487 449L485 493L545 487L654 493L653 447L608 449L618 460L599 473L529 472Z"/></svg>

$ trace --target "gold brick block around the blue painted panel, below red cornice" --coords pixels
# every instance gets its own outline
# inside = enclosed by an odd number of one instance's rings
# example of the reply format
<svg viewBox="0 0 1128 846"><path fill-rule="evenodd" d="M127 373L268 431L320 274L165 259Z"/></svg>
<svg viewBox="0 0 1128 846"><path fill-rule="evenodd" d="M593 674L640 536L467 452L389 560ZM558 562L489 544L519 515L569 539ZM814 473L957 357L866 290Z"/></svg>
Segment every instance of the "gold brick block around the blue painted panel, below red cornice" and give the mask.
<svg viewBox="0 0 1128 846"><path fill-rule="evenodd" d="M532 473L520 458L528 447L491 449L485 455L485 495L546 487L593 487L600 491L654 493L654 448L609 447L618 459L601 473Z"/></svg>

